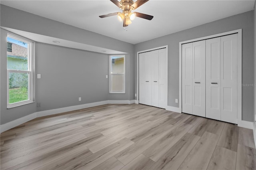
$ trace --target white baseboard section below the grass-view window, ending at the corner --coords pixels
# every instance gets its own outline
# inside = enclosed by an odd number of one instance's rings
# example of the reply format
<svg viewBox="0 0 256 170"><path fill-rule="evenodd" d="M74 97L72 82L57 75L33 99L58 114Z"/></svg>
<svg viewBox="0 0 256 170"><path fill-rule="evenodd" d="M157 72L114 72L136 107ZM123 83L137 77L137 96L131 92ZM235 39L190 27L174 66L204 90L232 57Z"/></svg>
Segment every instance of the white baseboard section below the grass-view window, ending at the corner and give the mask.
<svg viewBox="0 0 256 170"><path fill-rule="evenodd" d="M5 124L1 125L1 133L6 131L6 130L9 130L11 128L14 128L18 125L21 125L22 123L26 123L28 121L31 121L32 119L35 119L35 118L36 118L36 113L32 113L30 115L21 117L19 119L14 120L14 121L10 121L8 123L5 123Z"/></svg>

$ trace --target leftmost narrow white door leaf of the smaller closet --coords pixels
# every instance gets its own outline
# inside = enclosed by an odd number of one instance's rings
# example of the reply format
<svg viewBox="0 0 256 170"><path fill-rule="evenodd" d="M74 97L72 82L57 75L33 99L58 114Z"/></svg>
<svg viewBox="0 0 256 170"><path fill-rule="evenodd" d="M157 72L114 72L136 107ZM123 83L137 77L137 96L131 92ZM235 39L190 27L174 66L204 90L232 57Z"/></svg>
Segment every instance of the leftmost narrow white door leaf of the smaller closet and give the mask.
<svg viewBox="0 0 256 170"><path fill-rule="evenodd" d="M145 53L139 54L139 103L145 104Z"/></svg>

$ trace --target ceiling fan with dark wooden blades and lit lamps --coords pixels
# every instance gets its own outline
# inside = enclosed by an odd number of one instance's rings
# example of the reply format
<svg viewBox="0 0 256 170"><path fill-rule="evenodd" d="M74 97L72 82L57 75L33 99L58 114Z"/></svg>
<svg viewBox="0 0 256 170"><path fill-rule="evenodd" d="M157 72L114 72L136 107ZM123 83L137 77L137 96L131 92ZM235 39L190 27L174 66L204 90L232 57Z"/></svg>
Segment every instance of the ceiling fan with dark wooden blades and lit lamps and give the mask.
<svg viewBox="0 0 256 170"><path fill-rule="evenodd" d="M131 20L134 20L134 18L140 17L144 18L146 20L152 20L154 16L142 14L140 12L132 12L132 10L135 10L142 4L146 3L148 0L137 0L136 2L133 2L133 0L121 0L120 2L118 0L110 0L113 2L118 8L120 8L123 12L115 12L111 14L106 14L99 16L100 18L105 18L108 16L115 16L117 15L118 20L122 21L124 20L123 27L127 27L129 24L132 24Z"/></svg>

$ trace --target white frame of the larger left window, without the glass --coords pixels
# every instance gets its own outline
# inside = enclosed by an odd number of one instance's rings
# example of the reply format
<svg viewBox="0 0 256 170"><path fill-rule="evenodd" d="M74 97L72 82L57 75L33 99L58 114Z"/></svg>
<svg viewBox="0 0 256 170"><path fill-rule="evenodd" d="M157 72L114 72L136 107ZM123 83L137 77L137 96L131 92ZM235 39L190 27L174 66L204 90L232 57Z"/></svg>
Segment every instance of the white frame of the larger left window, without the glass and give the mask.
<svg viewBox="0 0 256 170"><path fill-rule="evenodd" d="M7 71L7 109L11 109L13 107L18 107L22 105L27 105L30 103L34 103L34 42L18 36L16 34L7 33L7 37L19 40L21 42L25 42L28 44L28 70L14 70L14 69L8 69L6 66ZM6 44L7 44L7 37L6 37ZM6 59L7 59L7 49L6 49ZM7 64L6 60L6 64ZM9 73L28 73L28 100L26 101L20 101L16 103L9 103Z"/></svg>

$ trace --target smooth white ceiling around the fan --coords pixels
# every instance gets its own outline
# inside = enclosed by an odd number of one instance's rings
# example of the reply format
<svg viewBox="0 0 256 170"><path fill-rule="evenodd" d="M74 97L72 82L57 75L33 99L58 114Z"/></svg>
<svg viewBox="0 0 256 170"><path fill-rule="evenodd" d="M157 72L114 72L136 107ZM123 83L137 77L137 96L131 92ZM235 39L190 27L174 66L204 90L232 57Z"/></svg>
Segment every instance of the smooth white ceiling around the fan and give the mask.
<svg viewBox="0 0 256 170"><path fill-rule="evenodd" d="M127 27L116 16L121 12L110 0L1 0L1 4L45 18L136 44L254 9L255 0L149 0L136 10L154 16L135 18Z"/></svg>

